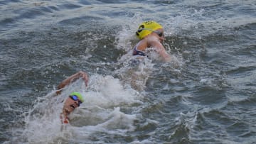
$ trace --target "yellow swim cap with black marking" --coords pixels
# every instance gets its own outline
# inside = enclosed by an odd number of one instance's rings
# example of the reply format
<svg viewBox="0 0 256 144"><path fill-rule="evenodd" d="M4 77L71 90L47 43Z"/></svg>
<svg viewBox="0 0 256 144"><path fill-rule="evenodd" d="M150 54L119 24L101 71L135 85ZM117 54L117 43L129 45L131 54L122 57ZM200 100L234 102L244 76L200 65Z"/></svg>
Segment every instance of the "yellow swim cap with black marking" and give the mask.
<svg viewBox="0 0 256 144"><path fill-rule="evenodd" d="M159 28L163 27L159 23L156 23L156 21L144 21L139 25L136 35L140 40L142 40L146 35L149 35L152 31L156 31Z"/></svg>

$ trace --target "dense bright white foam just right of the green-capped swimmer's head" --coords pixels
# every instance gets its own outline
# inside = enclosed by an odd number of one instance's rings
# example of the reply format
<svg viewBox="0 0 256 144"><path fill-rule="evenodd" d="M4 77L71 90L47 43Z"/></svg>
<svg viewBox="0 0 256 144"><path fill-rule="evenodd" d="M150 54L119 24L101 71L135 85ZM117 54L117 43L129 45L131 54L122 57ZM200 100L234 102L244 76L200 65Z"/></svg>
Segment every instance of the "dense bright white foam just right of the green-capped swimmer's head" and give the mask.
<svg viewBox="0 0 256 144"><path fill-rule="evenodd" d="M87 92L90 103L87 105L112 107L119 104L140 103L139 94L134 89L125 89L119 79L110 75L103 77L99 74L93 75L90 79L88 88L91 90Z"/></svg>

